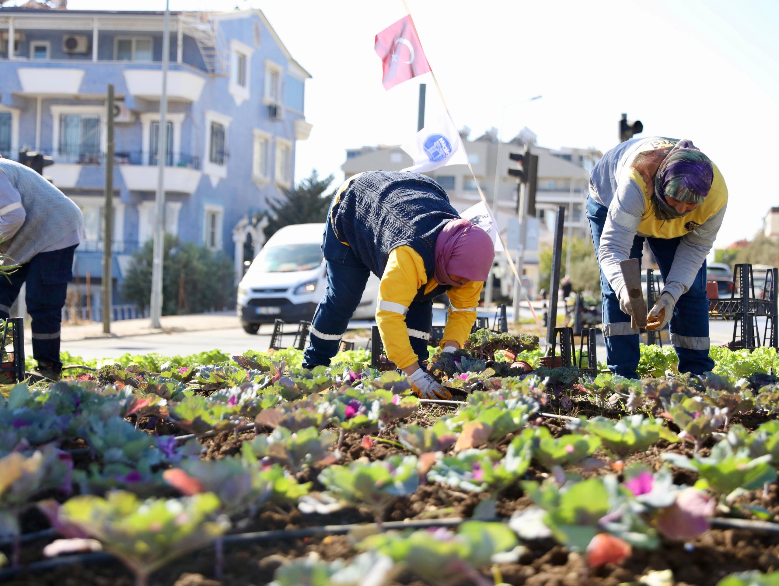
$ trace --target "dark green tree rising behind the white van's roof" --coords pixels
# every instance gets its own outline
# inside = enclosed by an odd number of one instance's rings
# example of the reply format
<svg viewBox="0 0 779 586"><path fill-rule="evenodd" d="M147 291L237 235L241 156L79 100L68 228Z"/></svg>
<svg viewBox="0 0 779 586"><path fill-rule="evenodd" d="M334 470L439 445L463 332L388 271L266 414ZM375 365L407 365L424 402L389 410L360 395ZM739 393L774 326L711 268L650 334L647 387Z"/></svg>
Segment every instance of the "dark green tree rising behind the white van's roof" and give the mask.
<svg viewBox="0 0 779 586"><path fill-rule="evenodd" d="M309 222L324 222L327 220L327 210L333 192L324 195L333 175L320 179L316 169L308 178L303 179L293 189L284 189L284 198L269 203L269 223L265 228L265 237L270 238L279 229L291 224L308 224Z"/></svg>

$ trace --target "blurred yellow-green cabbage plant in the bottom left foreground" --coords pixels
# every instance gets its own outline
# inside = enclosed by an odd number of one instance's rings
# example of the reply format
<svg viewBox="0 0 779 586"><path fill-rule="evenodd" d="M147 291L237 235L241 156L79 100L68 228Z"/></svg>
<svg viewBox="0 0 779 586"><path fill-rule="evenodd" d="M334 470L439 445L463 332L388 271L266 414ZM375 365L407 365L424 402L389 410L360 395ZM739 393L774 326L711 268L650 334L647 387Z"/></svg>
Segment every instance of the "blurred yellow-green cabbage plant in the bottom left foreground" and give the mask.
<svg viewBox="0 0 779 586"><path fill-rule="evenodd" d="M210 492L142 501L132 492L115 491L106 498L74 496L59 509L58 518L100 541L132 570L136 586L146 586L154 570L227 530L227 520L214 518L219 507Z"/></svg>

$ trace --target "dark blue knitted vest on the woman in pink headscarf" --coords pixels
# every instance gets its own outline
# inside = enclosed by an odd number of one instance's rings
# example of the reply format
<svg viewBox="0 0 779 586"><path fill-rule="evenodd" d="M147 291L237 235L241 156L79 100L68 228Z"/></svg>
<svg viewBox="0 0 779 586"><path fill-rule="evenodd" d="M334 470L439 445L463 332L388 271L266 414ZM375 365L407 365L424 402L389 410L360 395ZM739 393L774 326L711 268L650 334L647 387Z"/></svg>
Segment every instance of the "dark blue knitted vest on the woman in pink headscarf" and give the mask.
<svg viewBox="0 0 779 586"><path fill-rule="evenodd" d="M435 274L435 240L460 217L443 188L419 173L371 171L344 190L333 207L333 231L373 274L381 277L390 252L411 246Z"/></svg>

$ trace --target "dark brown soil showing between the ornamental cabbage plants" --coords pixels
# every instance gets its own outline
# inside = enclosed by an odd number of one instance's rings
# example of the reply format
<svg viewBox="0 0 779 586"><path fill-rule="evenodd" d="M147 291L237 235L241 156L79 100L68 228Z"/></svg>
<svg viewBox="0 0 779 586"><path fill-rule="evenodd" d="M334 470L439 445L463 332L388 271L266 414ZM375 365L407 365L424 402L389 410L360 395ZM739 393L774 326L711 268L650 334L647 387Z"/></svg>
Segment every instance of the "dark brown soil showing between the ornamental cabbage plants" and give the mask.
<svg viewBox="0 0 779 586"><path fill-rule="evenodd" d="M598 410L591 402L590 406ZM386 439L397 442L394 432L397 425L431 425L435 418L454 407L428 406L421 408L412 418L392 422L382 432L372 434L375 438L372 447L363 447L363 434L349 432L344 434L341 445L342 458L339 464L348 464L361 457L368 460L378 460L393 454L410 454L408 450L376 439ZM545 406L545 410L548 406ZM549 409L552 411L552 409ZM559 412L559 411L556 411ZM593 414L595 415L595 414ZM599 415L599 414L598 414ZM744 425L747 429L755 429L761 423L774 416L766 416L756 411L735 415L732 423ZM566 423L555 418L541 418L555 437L569 433ZM157 427L158 422L154 426ZM269 429L258 429L257 432L269 432ZM238 454L241 443L256 436L255 430L239 432L238 438L234 432L222 432L203 440L205 459L218 459ZM509 434L496 446L505 451L513 439ZM706 456L714 439L709 439L700 449L700 455ZM69 449L83 447L80 444L69 445ZM660 468L663 464L661 455L665 452L677 452L692 456L693 446L689 443L668 443L660 440L646 451L633 454L625 459L624 464L646 464L651 469ZM607 455L597 452L595 457L606 464L597 470L583 471L571 468L569 472L582 476L603 475L614 473ZM82 464L79 461L79 464ZM313 482L312 489L323 487L316 481L321 471L321 465L315 465L298 475L300 482ZM696 474L691 471L671 467L677 484L692 485L696 482ZM525 479L542 481L548 477L548 472L535 462L525 475ZM385 521L404 521L406 519L436 519L444 517L470 517L481 500L488 498L486 493L466 493L448 486L432 484L421 485L413 495L397 498L388 507ZM495 505L499 517L510 517L517 510L531 506L530 499L523 493L520 485L512 485L502 492ZM735 505L753 505L767 509L774 518L779 518L779 489L776 484L769 487L767 494L762 490L745 492L733 503ZM23 516L23 529L39 531L48 527L45 518L35 510L28 511ZM234 527L234 532L268 531L273 529L294 529L315 527L328 524L369 523L373 515L368 510L347 507L333 514L301 514L297 507L270 507L263 510L253 519L242 519ZM41 539L26 543L23 546L23 563L41 560L41 549L51 539ZM220 579L214 577L215 563L213 548L190 553L168 564L157 571L150 579L153 586L249 586L250 584L268 584L273 580L273 572L289 560L306 556L315 552L323 560L348 559L356 555L352 539L348 535L330 535L326 537L302 538L290 541L276 539L273 542L255 542L242 545L225 545L224 575ZM763 572L779 570L779 535L761 531L719 530L712 529L703 535L686 542L661 540L657 550L647 551L634 549L633 556L619 565L606 564L596 570L588 570L583 556L576 552L568 552L566 548L552 540L539 540L523 544L527 550L518 563L502 563L497 569L506 584L527 584L527 586L575 586L577 584L593 584L594 586L618 586L626 582L637 582L639 578L652 570L670 569L674 573L675 584L685 586L701 584L714 586L727 574L745 570L761 570ZM7 546L2 550L8 554ZM485 577L492 579L492 573L485 570ZM19 574L7 584L40 584L41 586L132 586L134 579L128 570L117 561L95 563L85 566L68 565L48 570L41 574ZM393 584L424 584L411 573L404 573ZM468 582L463 582L468 584Z"/></svg>

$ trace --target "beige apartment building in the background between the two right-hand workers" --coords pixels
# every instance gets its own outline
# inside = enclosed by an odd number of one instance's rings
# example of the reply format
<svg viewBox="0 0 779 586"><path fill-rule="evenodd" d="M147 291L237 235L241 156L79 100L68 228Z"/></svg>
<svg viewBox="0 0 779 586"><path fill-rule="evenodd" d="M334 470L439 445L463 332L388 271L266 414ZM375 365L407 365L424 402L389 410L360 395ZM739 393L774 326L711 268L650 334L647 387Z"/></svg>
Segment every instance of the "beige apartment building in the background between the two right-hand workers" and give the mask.
<svg viewBox="0 0 779 586"><path fill-rule="evenodd" d="M499 142L497 131L490 129L478 138L467 139L467 131L461 132L474 175L467 165L450 165L431 171L435 181L446 189L449 199L456 210L462 212L481 201L478 185L485 194L488 203L495 210L499 228L506 236L509 252L516 255L519 242L519 218L517 216L517 182L508 174L509 167L515 163L509 159L510 153L521 153L532 138L525 130L507 143ZM552 245L555 210L566 207L566 235L587 236L589 224L584 217L584 203L587 199L587 182L590 171L602 157L599 150L593 148L564 147L559 150L548 149L530 143L530 150L538 155L538 186L536 209L539 219L538 243ZM411 166L412 161L400 146L362 146L347 150L347 160L341 165L346 178L361 171L383 169L400 171ZM495 274L501 277L501 288L508 294L512 286L508 264L503 256L496 256L499 267ZM538 291L538 251L528 250L524 256L523 274L533 292Z"/></svg>

